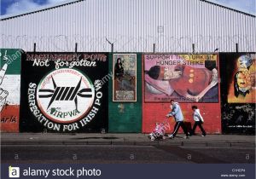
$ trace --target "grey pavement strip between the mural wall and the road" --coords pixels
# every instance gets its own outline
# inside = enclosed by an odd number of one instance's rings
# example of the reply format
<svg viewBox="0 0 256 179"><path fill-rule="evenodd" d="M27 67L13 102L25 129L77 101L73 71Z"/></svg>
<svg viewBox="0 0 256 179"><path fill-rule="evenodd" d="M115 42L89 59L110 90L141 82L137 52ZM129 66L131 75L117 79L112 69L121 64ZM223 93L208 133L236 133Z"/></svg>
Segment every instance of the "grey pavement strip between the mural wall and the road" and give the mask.
<svg viewBox="0 0 256 179"><path fill-rule="evenodd" d="M1 145L130 145L130 146L184 146L184 147L254 147L255 136L207 135L183 139L150 141L145 134L135 133L0 133Z"/></svg>

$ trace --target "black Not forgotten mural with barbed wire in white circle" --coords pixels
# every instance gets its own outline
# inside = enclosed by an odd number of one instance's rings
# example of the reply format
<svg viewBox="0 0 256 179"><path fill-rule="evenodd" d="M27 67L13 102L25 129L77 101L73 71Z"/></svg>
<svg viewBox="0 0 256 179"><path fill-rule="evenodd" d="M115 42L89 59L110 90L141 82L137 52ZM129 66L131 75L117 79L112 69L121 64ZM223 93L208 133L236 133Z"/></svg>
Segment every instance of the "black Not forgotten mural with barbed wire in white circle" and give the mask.
<svg viewBox="0 0 256 179"><path fill-rule="evenodd" d="M108 55L26 53L22 124L34 130L99 132L108 128Z"/></svg>

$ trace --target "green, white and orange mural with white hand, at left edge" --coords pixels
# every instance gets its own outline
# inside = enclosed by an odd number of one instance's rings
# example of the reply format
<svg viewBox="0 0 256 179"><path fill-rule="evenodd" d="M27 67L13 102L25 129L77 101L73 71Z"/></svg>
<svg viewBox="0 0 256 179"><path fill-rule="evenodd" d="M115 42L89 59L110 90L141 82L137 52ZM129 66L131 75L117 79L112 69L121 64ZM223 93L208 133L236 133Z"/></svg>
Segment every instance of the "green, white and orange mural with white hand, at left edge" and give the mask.
<svg viewBox="0 0 256 179"><path fill-rule="evenodd" d="M0 52L0 130L19 132L21 49Z"/></svg>

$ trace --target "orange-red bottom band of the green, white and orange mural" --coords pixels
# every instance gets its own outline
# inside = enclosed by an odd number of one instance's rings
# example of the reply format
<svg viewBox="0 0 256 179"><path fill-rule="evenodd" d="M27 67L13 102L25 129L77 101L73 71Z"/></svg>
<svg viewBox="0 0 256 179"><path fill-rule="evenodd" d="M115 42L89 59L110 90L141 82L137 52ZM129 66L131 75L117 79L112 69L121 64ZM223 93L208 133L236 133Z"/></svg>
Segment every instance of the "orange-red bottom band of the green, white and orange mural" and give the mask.
<svg viewBox="0 0 256 179"><path fill-rule="evenodd" d="M0 113L1 132L19 132L19 113L20 105L9 105L3 108L3 111Z"/></svg>

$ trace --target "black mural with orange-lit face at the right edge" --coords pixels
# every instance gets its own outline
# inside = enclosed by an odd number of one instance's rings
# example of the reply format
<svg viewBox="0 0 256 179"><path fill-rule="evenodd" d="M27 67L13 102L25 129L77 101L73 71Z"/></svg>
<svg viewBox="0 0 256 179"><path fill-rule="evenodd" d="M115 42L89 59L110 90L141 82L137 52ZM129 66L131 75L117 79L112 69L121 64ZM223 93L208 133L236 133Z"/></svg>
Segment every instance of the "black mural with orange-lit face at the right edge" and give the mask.
<svg viewBox="0 0 256 179"><path fill-rule="evenodd" d="M255 54L221 53L221 109L224 133L255 133Z"/></svg>

